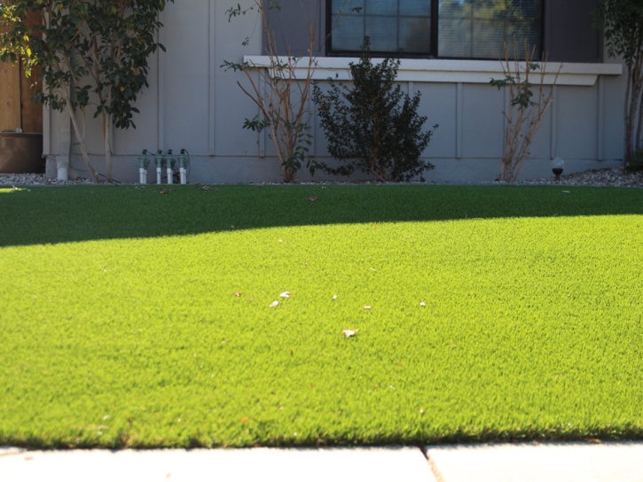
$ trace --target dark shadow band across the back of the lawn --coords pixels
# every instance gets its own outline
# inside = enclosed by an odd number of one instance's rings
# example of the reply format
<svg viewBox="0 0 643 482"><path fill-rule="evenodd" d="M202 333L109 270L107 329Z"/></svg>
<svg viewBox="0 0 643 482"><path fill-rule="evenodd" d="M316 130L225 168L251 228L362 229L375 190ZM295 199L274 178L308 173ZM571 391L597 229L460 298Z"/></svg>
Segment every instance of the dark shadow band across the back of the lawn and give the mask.
<svg viewBox="0 0 643 482"><path fill-rule="evenodd" d="M643 214L643 190L516 186L0 190L0 246L360 222ZM569 192L565 192L569 191ZM310 197L318 198L310 201Z"/></svg>

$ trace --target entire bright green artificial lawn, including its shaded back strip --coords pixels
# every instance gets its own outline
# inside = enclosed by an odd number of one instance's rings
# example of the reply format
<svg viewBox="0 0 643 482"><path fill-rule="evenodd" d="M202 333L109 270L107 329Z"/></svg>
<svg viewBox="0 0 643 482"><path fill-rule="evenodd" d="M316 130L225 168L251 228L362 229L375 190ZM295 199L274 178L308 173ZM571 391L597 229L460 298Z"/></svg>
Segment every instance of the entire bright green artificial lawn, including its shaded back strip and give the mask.
<svg viewBox="0 0 643 482"><path fill-rule="evenodd" d="M0 445L643 438L643 190L159 191L0 190Z"/></svg>

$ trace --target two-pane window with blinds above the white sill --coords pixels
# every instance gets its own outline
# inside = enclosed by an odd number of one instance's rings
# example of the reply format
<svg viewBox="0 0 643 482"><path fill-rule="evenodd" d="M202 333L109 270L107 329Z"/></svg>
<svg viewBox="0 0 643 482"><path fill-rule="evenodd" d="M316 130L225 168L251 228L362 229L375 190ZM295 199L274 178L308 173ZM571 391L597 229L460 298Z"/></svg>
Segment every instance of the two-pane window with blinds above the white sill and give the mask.
<svg viewBox="0 0 643 482"><path fill-rule="evenodd" d="M330 0L329 51L350 55L371 38L373 54L498 58L525 39L542 50L542 0Z"/></svg>

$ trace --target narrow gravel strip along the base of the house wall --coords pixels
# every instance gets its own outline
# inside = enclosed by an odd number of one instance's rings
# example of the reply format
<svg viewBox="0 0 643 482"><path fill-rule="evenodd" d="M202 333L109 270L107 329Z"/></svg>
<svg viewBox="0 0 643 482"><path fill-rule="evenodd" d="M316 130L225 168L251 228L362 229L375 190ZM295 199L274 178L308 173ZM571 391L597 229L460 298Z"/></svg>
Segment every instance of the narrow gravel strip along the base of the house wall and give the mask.
<svg viewBox="0 0 643 482"><path fill-rule="evenodd" d="M370 183L370 182L365 182ZM375 183L375 182L372 182ZM428 182L430 183L430 182ZM57 179L48 179L42 174L12 174L0 175L0 185L26 186L26 185L74 185L74 184L91 184L90 179L78 178L74 181L58 181ZM254 184L261 186L270 183ZM347 182L322 182L322 183L302 183L302 184L353 184ZM482 183L484 185L506 184L498 181L492 183ZM517 185L557 185L557 186L600 186L600 187L628 187L643 188L643 172L626 173L622 167L612 167L608 169L593 169L583 173L570 175L561 175L561 181L557 182L555 178L545 177L542 179L529 179L514 183Z"/></svg>

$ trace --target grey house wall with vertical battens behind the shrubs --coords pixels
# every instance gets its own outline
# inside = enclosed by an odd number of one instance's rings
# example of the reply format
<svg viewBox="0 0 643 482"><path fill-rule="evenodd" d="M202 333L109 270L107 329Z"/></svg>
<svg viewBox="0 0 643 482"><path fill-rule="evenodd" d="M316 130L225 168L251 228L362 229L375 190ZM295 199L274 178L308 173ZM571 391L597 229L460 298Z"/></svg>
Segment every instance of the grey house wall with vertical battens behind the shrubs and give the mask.
<svg viewBox="0 0 643 482"><path fill-rule="evenodd" d="M295 0L289 1L299 4ZM568 1L575 4L580 0ZM244 74L220 68L224 60L241 62L244 56L263 54L264 39L254 13L229 21L225 12L237 3L236 0L182 0L168 4L161 13L165 27L160 38L167 52L159 52L151 59L150 87L137 103L141 111L134 119L137 128L114 128L114 179L137 182L137 154L143 149L172 149L175 153L187 149L192 159L191 183L280 181L274 148L266 131L257 134L241 128L244 119L258 114L256 105L237 84L241 82L247 87L247 79ZM252 1L240 3L247 7ZM284 0L280 3L284 12ZM553 5L562 3L553 2ZM297 15L292 11L287 13L282 24L290 25ZM562 22L550 25L550 30L561 29L559 24ZM323 27L321 23L319 25ZM251 35L253 31L254 35ZM585 33L598 35L590 30ZM297 35L301 32L295 37ZM243 46L247 36L250 36L249 42ZM318 43L323 44L323 39L318 38ZM572 51L580 52L579 60L592 60L589 51ZM592 51L600 54L604 62L616 63L615 59L604 58L602 49ZM574 65L566 60L565 67ZM346 73L345 67L343 73ZM427 115L427 127L435 123L440 125L425 152L436 168L425 178L436 183L493 181L503 152L501 112L508 100L507 93L492 88L486 80L467 80L469 77L465 74L439 74L443 76L420 68L417 72L410 71L408 75L412 77L400 81L409 92L421 92L420 113ZM566 173L616 166L623 156L624 77L585 75L584 79L595 82L589 85L569 82L555 87L553 108L538 132L531 159L523 167L521 177L551 175L550 160L559 156L566 160ZM325 84L324 81L320 83ZM92 115L88 113L84 120L85 139L92 162L98 172L104 173L100 125ZM72 167L79 175L87 176L70 130L66 113L46 112L45 153L67 155L71 146ZM314 121L312 133L315 156L332 162L327 158L325 136L318 120ZM299 177L302 181L309 178L308 173L303 172ZM150 167L148 181L154 179L153 167ZM330 178L318 173L315 179Z"/></svg>

